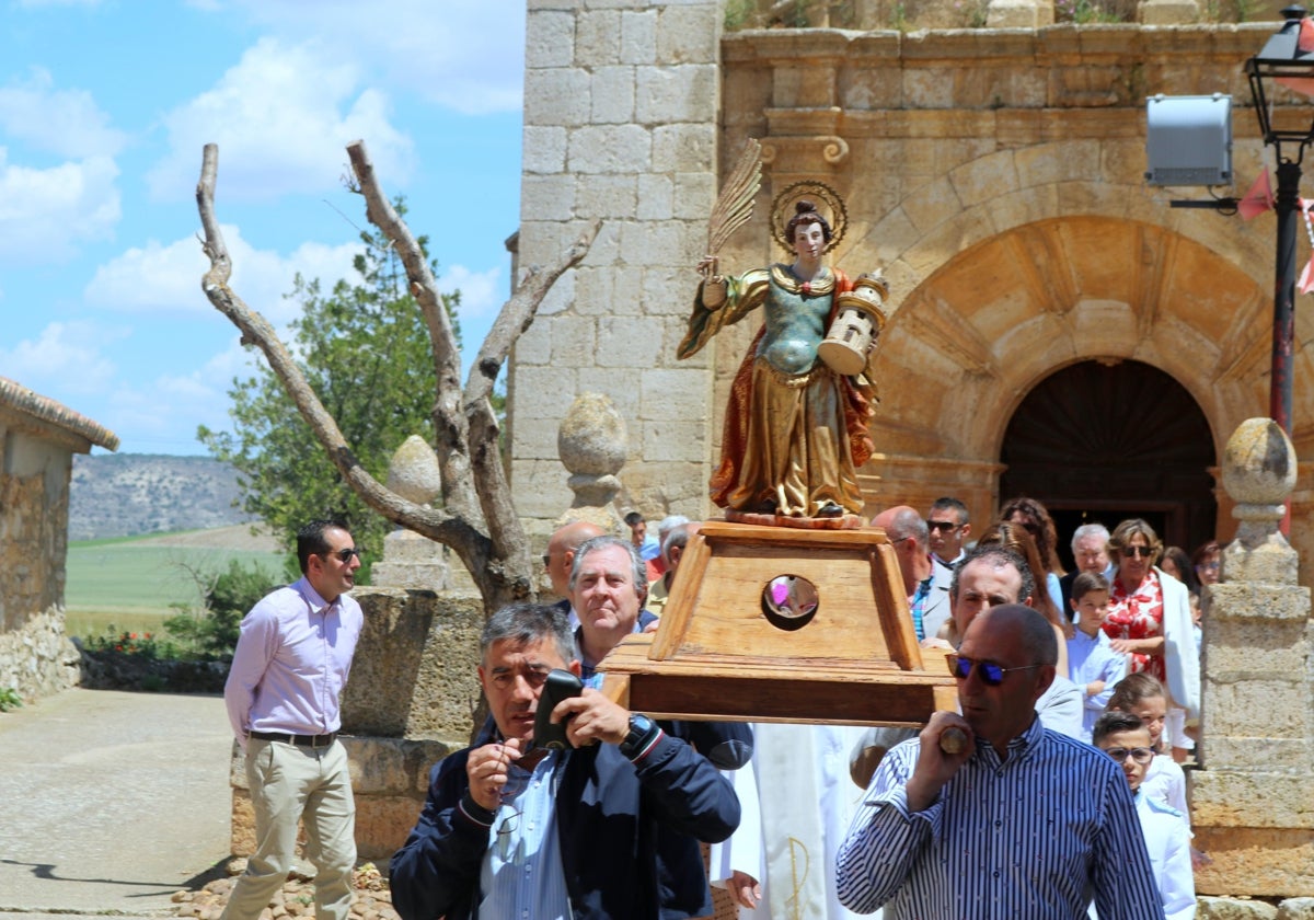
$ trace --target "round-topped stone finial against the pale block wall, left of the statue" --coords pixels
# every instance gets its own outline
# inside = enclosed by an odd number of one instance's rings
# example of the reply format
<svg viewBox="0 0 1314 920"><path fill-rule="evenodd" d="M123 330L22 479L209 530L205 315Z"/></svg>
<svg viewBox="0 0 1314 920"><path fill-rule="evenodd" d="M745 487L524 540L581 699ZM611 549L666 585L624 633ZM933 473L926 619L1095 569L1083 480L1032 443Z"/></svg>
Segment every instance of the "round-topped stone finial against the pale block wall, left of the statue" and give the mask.
<svg viewBox="0 0 1314 920"><path fill-rule="evenodd" d="M616 473L625 465L629 435L610 397L581 393L557 430L557 453L570 471L572 507L610 505L620 490Z"/></svg>

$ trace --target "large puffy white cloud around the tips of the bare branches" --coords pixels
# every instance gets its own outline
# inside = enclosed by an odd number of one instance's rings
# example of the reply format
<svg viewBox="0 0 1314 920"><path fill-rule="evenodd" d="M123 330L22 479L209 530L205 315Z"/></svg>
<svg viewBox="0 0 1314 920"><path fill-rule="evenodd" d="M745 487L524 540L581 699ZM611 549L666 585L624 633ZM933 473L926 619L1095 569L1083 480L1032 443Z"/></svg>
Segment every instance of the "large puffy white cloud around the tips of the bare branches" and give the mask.
<svg viewBox="0 0 1314 920"><path fill-rule="evenodd" d="M189 196L210 142L219 146L225 198L336 188L344 147L357 138L381 172L405 177L411 141L389 122L386 96L360 85L359 68L322 45L261 38L214 88L164 116L170 152L147 175L152 196Z"/></svg>

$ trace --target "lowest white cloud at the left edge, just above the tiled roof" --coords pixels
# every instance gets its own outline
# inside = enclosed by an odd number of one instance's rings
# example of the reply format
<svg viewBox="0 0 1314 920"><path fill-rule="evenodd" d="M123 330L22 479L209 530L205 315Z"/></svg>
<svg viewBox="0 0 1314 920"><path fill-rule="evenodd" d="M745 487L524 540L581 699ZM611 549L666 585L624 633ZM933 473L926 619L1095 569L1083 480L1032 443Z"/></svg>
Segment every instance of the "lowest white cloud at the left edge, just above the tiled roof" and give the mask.
<svg viewBox="0 0 1314 920"><path fill-rule="evenodd" d="M116 373L101 348L126 334L87 321L53 322L35 339L0 348L0 367L7 377L21 380L38 393L99 393Z"/></svg>

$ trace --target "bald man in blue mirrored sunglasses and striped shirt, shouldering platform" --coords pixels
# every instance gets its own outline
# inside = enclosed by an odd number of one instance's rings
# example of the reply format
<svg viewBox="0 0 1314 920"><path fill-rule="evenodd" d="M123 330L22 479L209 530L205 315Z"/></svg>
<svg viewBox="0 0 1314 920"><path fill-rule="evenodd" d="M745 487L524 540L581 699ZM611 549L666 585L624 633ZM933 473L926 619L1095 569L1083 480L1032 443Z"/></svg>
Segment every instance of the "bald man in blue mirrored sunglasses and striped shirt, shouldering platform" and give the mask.
<svg viewBox="0 0 1314 920"><path fill-rule="evenodd" d="M949 656L962 715L936 712L884 757L840 848L846 907L1080 920L1093 895L1101 917L1163 919L1122 770L1035 714L1056 662L1054 630L1030 607L972 620Z"/></svg>

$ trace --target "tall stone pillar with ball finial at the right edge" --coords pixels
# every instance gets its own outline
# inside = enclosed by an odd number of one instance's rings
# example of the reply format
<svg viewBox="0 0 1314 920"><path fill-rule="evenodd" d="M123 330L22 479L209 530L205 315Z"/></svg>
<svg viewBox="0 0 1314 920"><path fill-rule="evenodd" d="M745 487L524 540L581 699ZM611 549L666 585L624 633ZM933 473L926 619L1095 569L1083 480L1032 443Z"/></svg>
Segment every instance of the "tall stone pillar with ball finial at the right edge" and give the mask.
<svg viewBox="0 0 1314 920"><path fill-rule="evenodd" d="M1314 662L1310 593L1279 531L1296 451L1267 418L1227 442L1222 481L1236 539L1204 598L1201 766L1194 845L1201 894L1314 895Z"/></svg>

